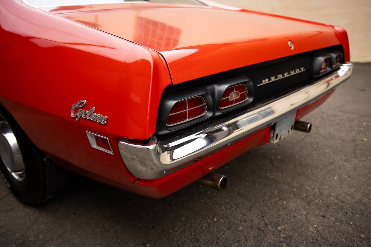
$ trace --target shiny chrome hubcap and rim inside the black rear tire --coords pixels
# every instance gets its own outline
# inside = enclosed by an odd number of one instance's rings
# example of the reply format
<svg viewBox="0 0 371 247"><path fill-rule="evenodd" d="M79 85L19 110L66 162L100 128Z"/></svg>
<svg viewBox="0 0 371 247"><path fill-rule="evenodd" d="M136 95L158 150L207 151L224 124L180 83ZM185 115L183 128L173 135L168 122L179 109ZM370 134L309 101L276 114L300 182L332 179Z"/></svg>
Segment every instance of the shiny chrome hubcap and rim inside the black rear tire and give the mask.
<svg viewBox="0 0 371 247"><path fill-rule="evenodd" d="M0 157L6 169L18 182L24 180L24 163L16 136L5 121L0 121Z"/></svg>

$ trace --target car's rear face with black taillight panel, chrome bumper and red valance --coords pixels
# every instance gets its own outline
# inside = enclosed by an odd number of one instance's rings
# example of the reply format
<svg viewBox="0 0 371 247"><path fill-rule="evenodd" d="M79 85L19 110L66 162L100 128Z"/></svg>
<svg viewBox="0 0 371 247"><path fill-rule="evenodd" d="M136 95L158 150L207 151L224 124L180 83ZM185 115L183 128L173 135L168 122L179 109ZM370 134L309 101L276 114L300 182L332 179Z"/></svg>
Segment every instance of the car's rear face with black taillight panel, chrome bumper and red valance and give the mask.
<svg viewBox="0 0 371 247"><path fill-rule="evenodd" d="M288 42L288 46L290 43ZM348 49L345 47L345 49ZM332 46L168 86L156 132L119 142L143 194L160 198L266 143L276 143L352 73L344 46Z"/></svg>

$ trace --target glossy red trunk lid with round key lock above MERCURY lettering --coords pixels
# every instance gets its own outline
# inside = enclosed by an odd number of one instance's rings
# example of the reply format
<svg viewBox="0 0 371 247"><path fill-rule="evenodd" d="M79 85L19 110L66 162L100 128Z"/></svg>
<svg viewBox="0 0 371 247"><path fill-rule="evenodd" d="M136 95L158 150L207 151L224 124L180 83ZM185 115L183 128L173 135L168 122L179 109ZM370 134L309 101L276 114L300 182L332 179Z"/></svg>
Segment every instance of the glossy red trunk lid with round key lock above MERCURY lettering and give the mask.
<svg viewBox="0 0 371 247"><path fill-rule="evenodd" d="M50 11L160 52L174 84L341 43L334 26L221 7L137 3Z"/></svg>

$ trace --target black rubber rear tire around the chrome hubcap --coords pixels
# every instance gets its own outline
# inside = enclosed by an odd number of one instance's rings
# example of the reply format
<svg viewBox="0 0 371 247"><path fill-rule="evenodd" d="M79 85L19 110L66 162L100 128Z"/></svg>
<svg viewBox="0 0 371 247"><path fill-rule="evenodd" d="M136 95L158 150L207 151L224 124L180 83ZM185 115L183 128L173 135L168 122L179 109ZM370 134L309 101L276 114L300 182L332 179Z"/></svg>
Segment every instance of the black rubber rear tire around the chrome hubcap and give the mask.
<svg viewBox="0 0 371 247"><path fill-rule="evenodd" d="M0 107L0 121L5 121L17 139L24 163L24 179L17 181L0 159L0 172L6 185L25 204L39 205L64 191L69 173L55 165L23 132L13 117Z"/></svg>

